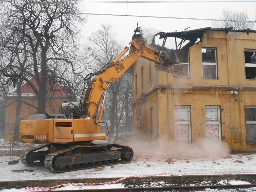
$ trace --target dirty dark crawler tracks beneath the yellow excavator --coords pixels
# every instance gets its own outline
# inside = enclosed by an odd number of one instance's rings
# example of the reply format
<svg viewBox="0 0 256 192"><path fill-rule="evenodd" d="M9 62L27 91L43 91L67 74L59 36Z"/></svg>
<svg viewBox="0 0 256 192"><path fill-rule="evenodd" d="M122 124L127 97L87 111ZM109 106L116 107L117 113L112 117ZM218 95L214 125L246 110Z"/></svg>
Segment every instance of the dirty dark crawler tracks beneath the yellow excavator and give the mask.
<svg viewBox="0 0 256 192"><path fill-rule="evenodd" d="M56 147L58 149L44 156L44 166L57 173L129 163L133 159L133 150L130 147L114 143L91 143L88 146L45 144L26 150L22 154L22 163L28 166L40 165L41 161L40 163L29 162L26 154L31 155L33 151L45 147Z"/></svg>

